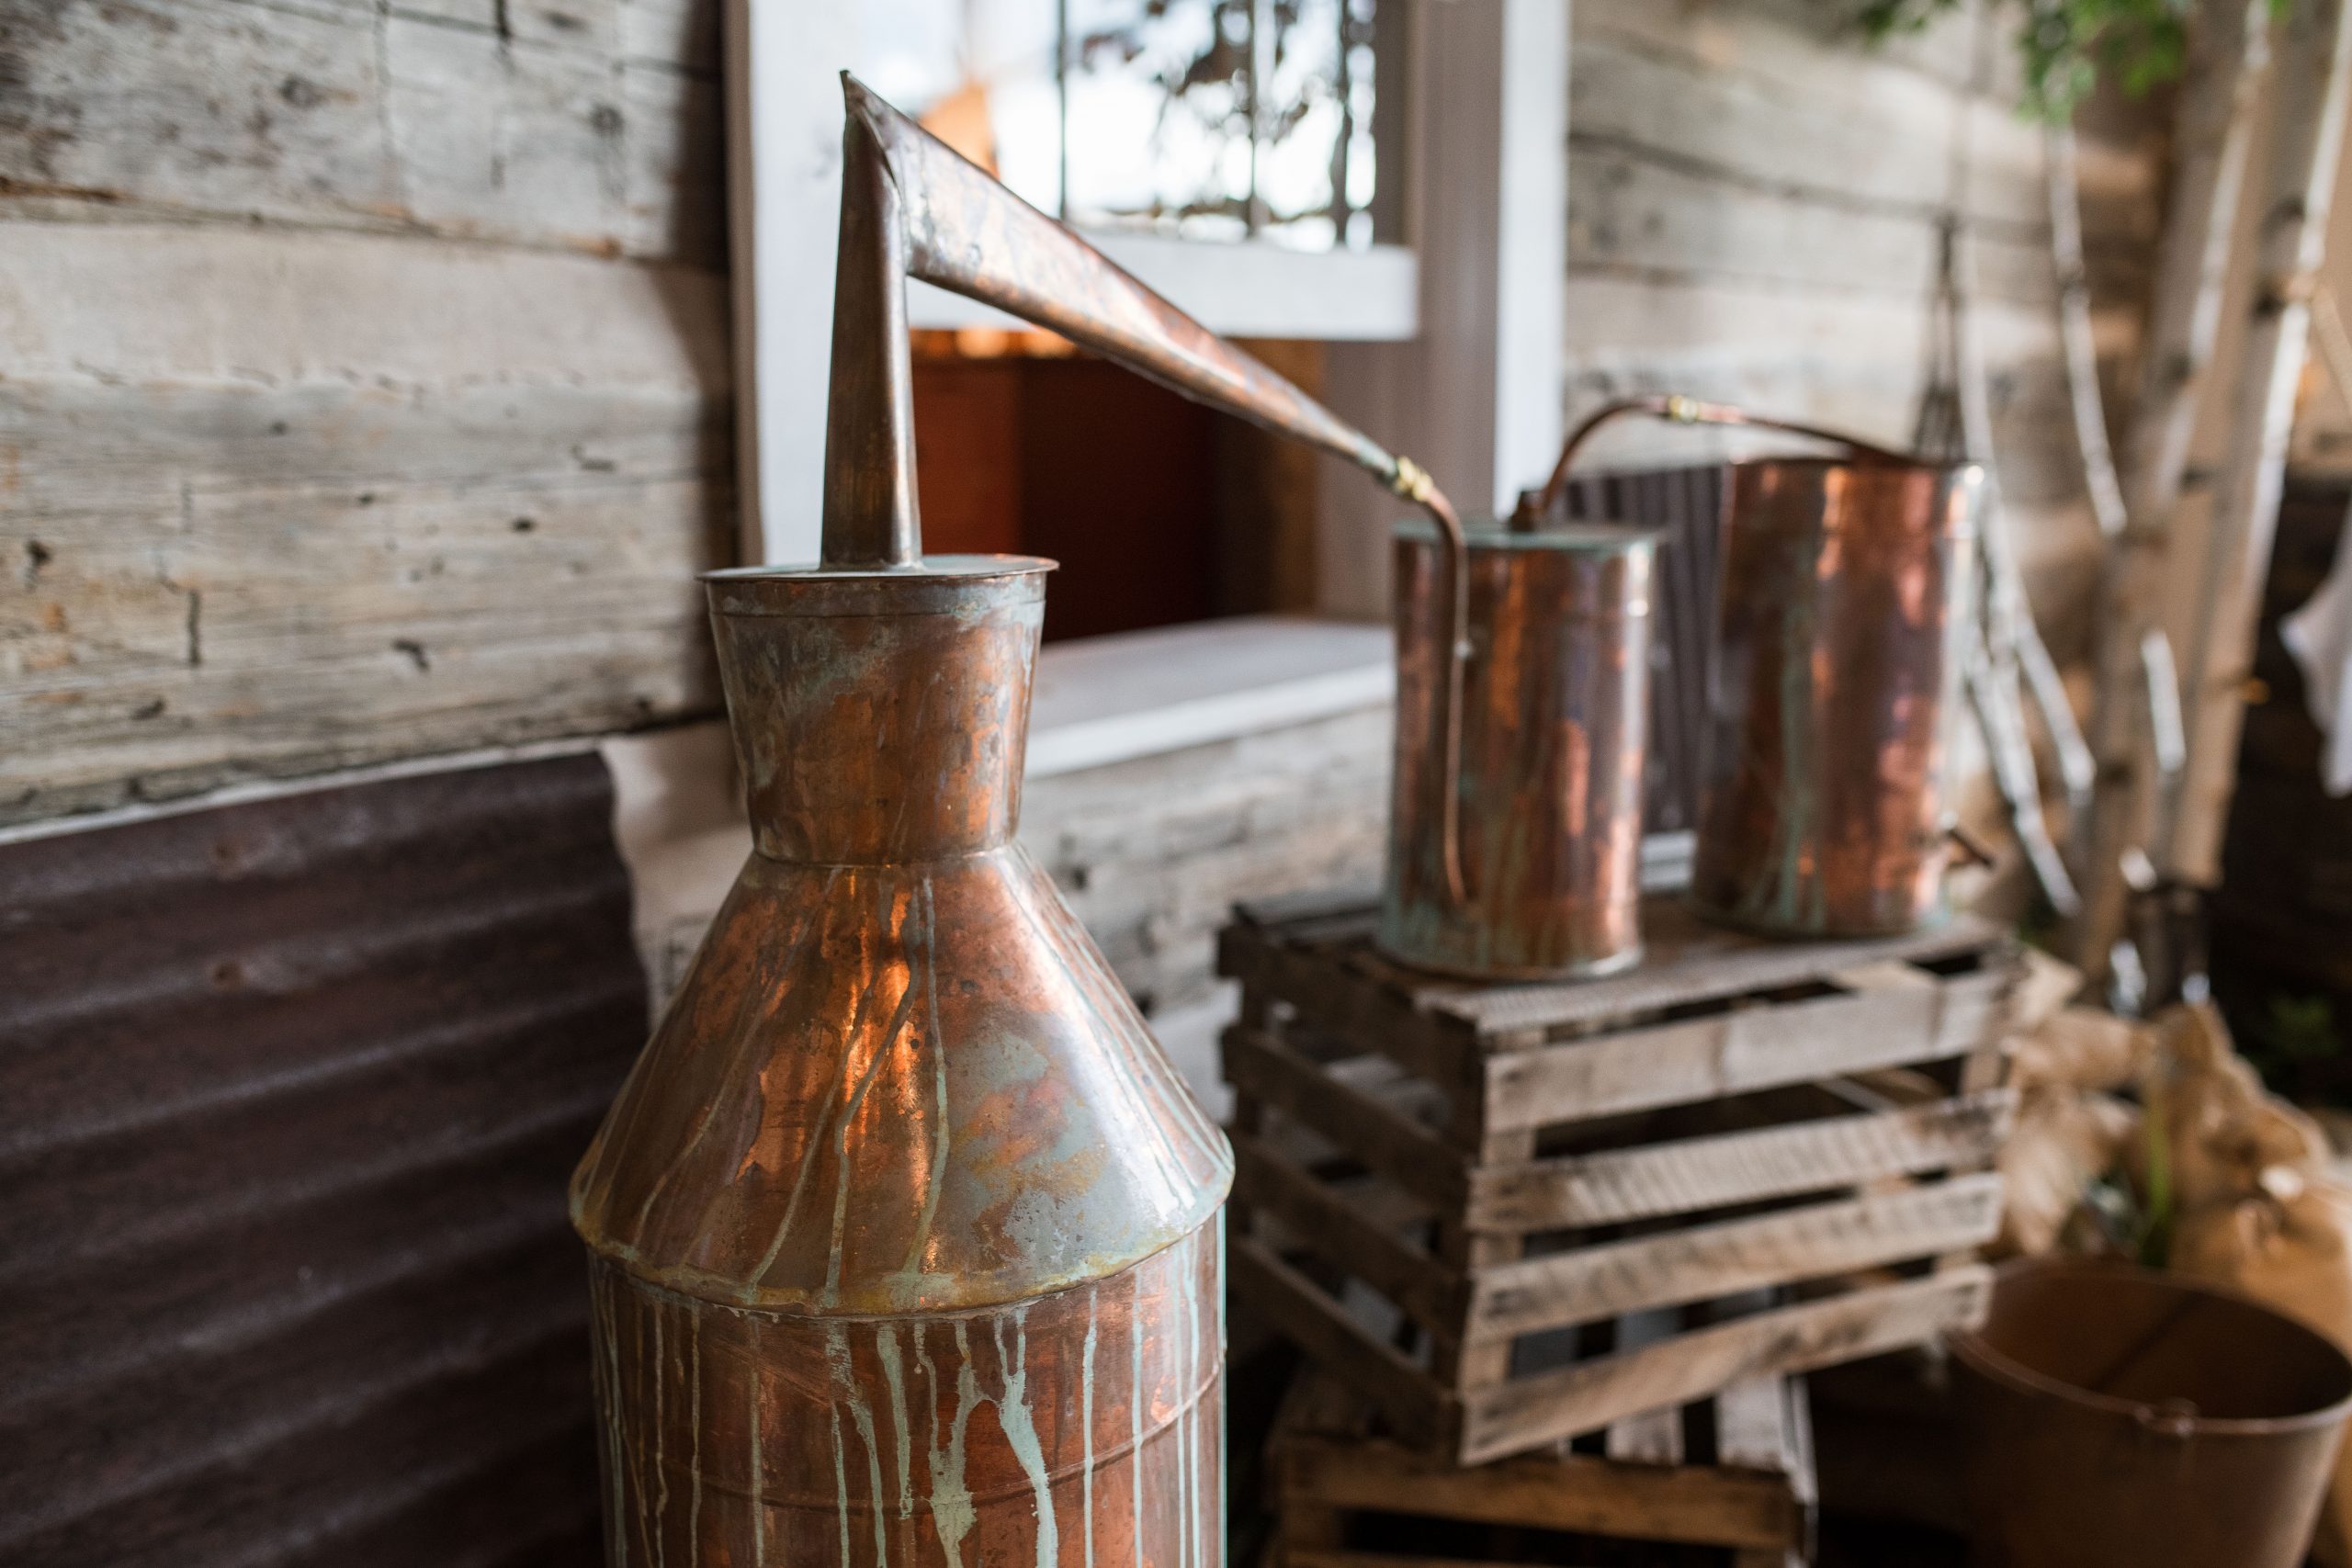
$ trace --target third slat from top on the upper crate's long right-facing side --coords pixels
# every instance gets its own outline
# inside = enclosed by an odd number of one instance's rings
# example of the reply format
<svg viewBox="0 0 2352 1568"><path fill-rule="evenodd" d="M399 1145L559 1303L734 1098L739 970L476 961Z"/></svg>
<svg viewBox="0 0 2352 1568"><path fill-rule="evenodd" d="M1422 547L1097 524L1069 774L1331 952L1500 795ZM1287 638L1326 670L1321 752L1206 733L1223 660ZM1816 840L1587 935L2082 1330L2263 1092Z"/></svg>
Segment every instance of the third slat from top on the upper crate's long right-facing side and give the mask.
<svg viewBox="0 0 2352 1568"><path fill-rule="evenodd" d="M1468 1340L1590 1324L1621 1312L1738 1295L1987 1241L2002 1178L1985 1171L1752 1220L1505 1262L1470 1281Z"/></svg>

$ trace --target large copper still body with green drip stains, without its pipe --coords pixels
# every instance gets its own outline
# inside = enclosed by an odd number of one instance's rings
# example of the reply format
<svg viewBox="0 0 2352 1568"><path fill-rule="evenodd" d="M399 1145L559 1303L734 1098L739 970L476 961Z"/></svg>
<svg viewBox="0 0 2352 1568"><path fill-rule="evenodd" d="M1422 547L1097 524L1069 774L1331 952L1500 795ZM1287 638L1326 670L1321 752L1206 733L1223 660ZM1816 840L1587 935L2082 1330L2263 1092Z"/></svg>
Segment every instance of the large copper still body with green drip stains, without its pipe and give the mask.
<svg viewBox="0 0 2352 1568"><path fill-rule="evenodd" d="M724 571L755 851L574 1185L612 1563L1223 1561L1223 1135L1014 842L1049 562Z"/></svg>

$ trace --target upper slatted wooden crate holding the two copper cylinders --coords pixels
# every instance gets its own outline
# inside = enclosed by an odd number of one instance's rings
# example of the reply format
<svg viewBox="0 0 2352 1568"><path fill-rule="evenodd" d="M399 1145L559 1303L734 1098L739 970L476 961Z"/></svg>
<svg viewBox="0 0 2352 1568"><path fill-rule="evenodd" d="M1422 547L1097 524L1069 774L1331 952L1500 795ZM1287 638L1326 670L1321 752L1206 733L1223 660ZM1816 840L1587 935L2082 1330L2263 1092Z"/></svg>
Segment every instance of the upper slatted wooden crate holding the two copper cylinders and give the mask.
<svg viewBox="0 0 2352 1568"><path fill-rule="evenodd" d="M1479 987L1383 961L1371 924L1327 898L1223 931L1232 1281L1397 1434L1475 1465L1980 1314L1992 926L1764 943L1661 898L1632 973Z"/></svg>

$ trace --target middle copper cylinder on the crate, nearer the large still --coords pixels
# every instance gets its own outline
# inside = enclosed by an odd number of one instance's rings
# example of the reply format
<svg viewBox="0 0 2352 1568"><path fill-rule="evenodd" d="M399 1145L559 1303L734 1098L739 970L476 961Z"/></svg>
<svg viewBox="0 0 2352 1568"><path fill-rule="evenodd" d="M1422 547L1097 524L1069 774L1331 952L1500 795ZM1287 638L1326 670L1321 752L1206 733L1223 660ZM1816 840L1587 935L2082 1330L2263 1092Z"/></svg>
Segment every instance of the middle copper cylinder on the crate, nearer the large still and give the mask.
<svg viewBox="0 0 2352 1568"><path fill-rule="evenodd" d="M1428 522L1397 529L1397 762L1378 945L1477 980L1602 976L1642 957L1642 745L1653 536L1468 529L1463 898L1444 875L1439 703L1451 628Z"/></svg>

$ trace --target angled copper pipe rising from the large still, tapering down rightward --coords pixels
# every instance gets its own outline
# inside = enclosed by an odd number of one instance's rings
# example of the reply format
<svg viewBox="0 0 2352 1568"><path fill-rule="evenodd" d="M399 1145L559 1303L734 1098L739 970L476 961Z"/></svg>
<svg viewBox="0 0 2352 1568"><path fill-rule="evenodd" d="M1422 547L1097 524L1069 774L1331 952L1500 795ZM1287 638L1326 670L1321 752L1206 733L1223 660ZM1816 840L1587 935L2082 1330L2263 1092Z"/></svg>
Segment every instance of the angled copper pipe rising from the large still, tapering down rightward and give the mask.
<svg viewBox="0 0 2352 1568"><path fill-rule="evenodd" d="M842 230L833 296L833 402L826 421L828 567L922 559L915 501L915 400L906 280L983 301L1115 360L1195 402L1308 442L1421 505L1446 545L1454 637L1446 646L1446 891L1461 867L1461 691L1470 635L1470 545L1428 470L1392 456L1287 378L1120 270L1007 190L847 71Z"/></svg>

